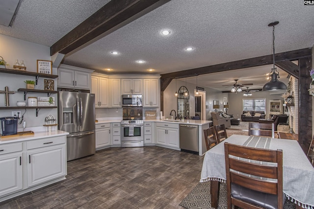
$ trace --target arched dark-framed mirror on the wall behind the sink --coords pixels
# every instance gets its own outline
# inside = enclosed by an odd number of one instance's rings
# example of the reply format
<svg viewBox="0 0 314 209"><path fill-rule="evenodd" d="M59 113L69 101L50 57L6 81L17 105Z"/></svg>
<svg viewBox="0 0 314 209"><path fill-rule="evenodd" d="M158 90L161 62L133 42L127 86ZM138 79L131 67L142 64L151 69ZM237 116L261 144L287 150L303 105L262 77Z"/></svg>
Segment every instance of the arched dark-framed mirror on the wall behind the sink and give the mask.
<svg viewBox="0 0 314 209"><path fill-rule="evenodd" d="M178 117L189 117L189 93L188 90L185 86L180 87L178 91L178 99L177 99L177 104L178 104Z"/></svg>

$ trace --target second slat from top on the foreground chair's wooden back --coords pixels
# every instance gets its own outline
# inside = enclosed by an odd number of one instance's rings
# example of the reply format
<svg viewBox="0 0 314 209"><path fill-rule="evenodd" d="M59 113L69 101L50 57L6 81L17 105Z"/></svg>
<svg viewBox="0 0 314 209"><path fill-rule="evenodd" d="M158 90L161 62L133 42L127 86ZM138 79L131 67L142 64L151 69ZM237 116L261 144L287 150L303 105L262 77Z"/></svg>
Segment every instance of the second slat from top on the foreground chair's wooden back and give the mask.
<svg viewBox="0 0 314 209"><path fill-rule="evenodd" d="M269 166L264 164L239 161L234 158L229 159L230 169L241 173L247 173L262 178L277 179L277 165Z"/></svg>

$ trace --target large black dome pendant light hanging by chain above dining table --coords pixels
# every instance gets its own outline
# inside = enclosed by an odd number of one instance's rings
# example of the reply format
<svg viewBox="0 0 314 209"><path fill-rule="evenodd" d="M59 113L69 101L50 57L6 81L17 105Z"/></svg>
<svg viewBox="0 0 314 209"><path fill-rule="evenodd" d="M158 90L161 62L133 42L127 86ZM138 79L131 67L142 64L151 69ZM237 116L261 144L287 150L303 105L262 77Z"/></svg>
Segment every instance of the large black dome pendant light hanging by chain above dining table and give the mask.
<svg viewBox="0 0 314 209"><path fill-rule="evenodd" d="M273 68L271 69L271 72L269 73L270 81L263 86L262 91L275 91L275 90L287 89L286 84L278 80L278 78L280 78L279 72L275 68L275 25L277 25L278 23L279 22L276 21L276 22L268 24L269 27L273 27Z"/></svg>

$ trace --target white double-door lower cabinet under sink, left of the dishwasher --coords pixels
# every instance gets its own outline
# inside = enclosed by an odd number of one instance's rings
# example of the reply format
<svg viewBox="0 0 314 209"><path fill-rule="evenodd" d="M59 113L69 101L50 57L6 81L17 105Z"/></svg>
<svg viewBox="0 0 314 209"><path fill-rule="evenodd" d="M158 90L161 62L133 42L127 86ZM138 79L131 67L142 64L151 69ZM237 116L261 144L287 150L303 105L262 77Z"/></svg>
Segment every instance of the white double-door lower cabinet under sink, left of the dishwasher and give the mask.
<svg viewBox="0 0 314 209"><path fill-rule="evenodd" d="M156 143L179 148L179 124L156 123Z"/></svg>

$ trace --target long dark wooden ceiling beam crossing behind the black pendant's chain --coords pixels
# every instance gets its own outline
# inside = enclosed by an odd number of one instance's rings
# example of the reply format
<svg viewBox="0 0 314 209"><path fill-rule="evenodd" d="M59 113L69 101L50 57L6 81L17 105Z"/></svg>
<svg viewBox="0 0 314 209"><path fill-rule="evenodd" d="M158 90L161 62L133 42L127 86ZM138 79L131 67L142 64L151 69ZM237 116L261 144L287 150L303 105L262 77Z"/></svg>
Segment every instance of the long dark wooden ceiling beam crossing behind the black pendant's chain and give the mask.
<svg viewBox="0 0 314 209"><path fill-rule="evenodd" d="M275 63L287 60L297 60L305 57L312 56L312 48L303 48L293 51L287 51L275 54ZM213 72L223 72L228 70L237 70L237 69L244 69L244 68L252 68L257 66L263 65L270 65L273 63L273 55L266 55L261 57L254 57L245 60L238 60L229 63L222 63L218 65L206 66L201 68L195 68L190 70L182 70L177 72L170 72L161 74L160 79L165 78L184 78L184 77L191 77L195 75L203 75ZM293 71L293 70L289 70Z"/></svg>

